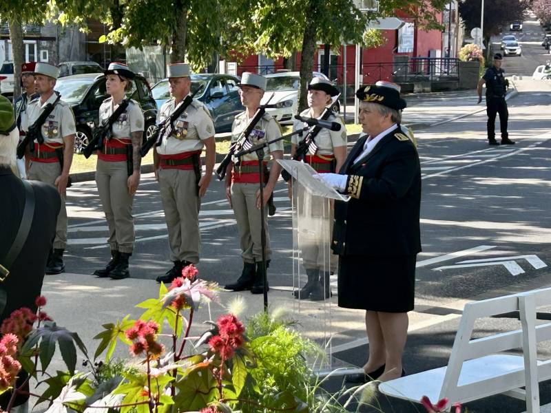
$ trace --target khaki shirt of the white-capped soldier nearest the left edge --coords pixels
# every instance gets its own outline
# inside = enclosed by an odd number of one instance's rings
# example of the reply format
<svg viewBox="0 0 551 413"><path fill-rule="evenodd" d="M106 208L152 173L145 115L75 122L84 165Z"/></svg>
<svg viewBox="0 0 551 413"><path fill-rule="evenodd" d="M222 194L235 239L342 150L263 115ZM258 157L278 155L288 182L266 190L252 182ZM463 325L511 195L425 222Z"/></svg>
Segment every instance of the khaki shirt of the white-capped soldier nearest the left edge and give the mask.
<svg viewBox="0 0 551 413"><path fill-rule="evenodd" d="M27 116L21 119L21 129L28 131L29 127L39 118L45 105L54 103L57 94L52 94L45 103L40 99L33 100L27 107ZM63 143L63 138L76 134L76 125L74 123L74 114L71 107L63 100L55 105L54 110L45 120L41 127L44 142Z"/></svg>

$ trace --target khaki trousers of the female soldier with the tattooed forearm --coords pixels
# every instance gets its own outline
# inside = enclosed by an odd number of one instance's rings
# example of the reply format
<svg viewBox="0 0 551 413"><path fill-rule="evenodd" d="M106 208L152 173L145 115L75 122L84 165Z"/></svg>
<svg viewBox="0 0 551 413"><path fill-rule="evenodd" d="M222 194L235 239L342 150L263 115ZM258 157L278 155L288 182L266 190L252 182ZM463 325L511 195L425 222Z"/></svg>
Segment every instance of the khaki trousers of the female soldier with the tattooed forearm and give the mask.
<svg viewBox="0 0 551 413"><path fill-rule="evenodd" d="M109 226L107 244L112 251L132 254L134 250L134 195L128 192L126 161L107 162L98 159L96 184Z"/></svg>

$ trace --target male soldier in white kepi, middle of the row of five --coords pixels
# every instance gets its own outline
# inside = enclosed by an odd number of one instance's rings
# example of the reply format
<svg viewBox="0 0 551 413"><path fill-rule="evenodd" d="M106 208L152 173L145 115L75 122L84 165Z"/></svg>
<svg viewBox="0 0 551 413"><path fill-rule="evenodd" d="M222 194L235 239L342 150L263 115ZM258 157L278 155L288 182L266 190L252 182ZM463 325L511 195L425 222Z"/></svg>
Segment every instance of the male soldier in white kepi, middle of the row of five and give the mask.
<svg viewBox="0 0 551 413"><path fill-rule="evenodd" d="M167 66L172 96L160 107L157 123L171 116L191 90L189 65ZM171 282L182 275L183 267L199 262L199 207L207 192L214 169L216 144L214 123L208 109L193 100L172 125L170 136L163 136L155 147L154 168L165 210L171 261L174 266L157 277L157 282ZM200 154L206 148L205 175L201 176Z"/></svg>

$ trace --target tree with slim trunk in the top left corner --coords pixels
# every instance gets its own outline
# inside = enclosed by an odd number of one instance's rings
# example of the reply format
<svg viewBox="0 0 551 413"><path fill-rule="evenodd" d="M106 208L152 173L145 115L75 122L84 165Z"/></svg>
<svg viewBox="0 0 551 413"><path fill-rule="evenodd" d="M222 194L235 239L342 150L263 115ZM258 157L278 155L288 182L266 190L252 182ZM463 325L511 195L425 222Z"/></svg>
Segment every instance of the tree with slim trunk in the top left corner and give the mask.
<svg viewBox="0 0 551 413"><path fill-rule="evenodd" d="M0 21L10 26L10 41L13 50L14 96L21 93L21 65L23 64L23 29L25 23L42 23L47 10L47 0L2 0L0 1Z"/></svg>

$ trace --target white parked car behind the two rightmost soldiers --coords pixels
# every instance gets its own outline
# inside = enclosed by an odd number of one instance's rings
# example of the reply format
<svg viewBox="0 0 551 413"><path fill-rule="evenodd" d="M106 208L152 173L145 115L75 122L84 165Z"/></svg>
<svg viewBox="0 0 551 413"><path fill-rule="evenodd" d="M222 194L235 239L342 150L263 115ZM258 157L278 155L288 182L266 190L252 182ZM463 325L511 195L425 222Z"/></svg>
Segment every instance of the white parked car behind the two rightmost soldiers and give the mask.
<svg viewBox="0 0 551 413"><path fill-rule="evenodd" d="M321 72L312 72L313 77L329 78ZM282 125L292 125L293 116L297 113L298 106L298 85L300 83L300 72L279 72L267 74L268 83L266 93L260 103L270 105L278 103L280 107L266 109L266 112L273 115ZM340 105L337 100L333 106L335 112L340 112Z"/></svg>

